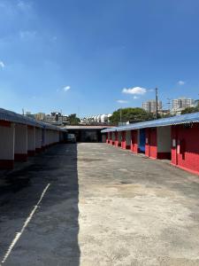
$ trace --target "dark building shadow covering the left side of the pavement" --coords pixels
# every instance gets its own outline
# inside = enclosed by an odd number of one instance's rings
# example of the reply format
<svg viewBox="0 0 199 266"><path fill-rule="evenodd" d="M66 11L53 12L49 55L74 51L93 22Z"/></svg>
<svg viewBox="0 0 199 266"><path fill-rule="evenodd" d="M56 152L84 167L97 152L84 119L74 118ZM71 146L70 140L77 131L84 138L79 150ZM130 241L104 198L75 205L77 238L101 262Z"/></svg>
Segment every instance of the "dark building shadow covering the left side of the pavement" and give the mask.
<svg viewBox="0 0 199 266"><path fill-rule="evenodd" d="M24 168L0 173L1 262L50 184L3 265L80 265L77 156L76 144L55 145Z"/></svg>

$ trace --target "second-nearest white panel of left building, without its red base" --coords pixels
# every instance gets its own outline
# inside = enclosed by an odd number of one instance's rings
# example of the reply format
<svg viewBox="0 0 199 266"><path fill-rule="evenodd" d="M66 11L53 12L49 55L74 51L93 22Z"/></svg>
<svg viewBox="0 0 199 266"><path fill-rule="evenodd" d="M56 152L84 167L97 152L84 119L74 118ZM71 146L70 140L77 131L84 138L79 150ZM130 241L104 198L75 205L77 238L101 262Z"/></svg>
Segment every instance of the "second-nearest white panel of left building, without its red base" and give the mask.
<svg viewBox="0 0 199 266"><path fill-rule="evenodd" d="M27 125L15 124L15 154L27 154Z"/></svg>

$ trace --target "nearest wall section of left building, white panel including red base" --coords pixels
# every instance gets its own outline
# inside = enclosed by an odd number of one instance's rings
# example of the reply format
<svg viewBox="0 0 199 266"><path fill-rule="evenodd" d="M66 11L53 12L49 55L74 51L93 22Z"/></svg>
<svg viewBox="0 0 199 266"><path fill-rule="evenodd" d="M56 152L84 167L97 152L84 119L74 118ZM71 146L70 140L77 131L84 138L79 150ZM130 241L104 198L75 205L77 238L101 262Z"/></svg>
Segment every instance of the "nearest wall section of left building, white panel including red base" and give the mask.
<svg viewBox="0 0 199 266"><path fill-rule="evenodd" d="M14 167L14 124L0 121L0 168Z"/></svg>

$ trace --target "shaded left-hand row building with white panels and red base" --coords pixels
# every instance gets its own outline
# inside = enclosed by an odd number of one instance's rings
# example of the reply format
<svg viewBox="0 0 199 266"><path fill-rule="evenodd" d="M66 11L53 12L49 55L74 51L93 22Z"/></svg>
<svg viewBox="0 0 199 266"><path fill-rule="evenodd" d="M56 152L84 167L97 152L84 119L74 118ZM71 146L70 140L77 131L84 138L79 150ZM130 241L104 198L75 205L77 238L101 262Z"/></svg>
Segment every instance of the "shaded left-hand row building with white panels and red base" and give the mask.
<svg viewBox="0 0 199 266"><path fill-rule="evenodd" d="M0 108L0 168L13 168L14 161L26 161L63 141L64 134L56 126Z"/></svg>

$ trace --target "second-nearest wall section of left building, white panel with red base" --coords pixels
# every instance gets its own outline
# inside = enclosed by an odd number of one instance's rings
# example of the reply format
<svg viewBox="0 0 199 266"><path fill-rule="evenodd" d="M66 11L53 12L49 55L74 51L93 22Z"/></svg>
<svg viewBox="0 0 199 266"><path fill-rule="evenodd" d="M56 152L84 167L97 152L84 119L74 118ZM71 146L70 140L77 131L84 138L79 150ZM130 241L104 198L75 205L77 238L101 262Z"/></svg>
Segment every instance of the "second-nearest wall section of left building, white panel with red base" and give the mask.
<svg viewBox="0 0 199 266"><path fill-rule="evenodd" d="M15 124L14 160L27 161L27 125Z"/></svg>

